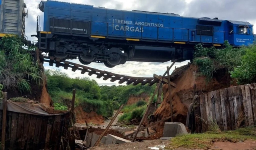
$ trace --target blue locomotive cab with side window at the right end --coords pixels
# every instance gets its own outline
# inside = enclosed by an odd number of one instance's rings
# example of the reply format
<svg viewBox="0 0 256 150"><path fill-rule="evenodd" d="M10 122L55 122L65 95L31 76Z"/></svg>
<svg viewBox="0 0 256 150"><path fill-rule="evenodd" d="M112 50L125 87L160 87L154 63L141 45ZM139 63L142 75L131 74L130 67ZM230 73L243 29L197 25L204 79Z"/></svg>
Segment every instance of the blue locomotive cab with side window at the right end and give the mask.
<svg viewBox="0 0 256 150"><path fill-rule="evenodd" d="M235 47L250 45L253 43L253 25L248 22L228 21L229 43Z"/></svg>

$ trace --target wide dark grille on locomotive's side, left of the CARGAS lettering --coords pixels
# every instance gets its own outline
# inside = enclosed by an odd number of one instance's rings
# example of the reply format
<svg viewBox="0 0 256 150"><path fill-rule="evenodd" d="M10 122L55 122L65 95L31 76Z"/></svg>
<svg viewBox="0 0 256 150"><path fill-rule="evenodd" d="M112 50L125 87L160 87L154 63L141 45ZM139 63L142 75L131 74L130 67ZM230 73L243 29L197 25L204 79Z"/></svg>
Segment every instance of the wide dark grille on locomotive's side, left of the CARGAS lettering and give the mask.
<svg viewBox="0 0 256 150"><path fill-rule="evenodd" d="M89 34L90 22L50 18L50 31L74 34Z"/></svg>

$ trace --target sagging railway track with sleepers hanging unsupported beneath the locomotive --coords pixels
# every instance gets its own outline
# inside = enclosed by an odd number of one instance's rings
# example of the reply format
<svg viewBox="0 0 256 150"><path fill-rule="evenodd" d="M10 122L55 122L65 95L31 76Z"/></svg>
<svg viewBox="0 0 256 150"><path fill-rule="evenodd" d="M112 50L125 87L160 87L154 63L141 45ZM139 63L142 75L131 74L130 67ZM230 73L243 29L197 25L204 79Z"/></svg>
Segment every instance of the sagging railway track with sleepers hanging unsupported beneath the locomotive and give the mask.
<svg viewBox="0 0 256 150"><path fill-rule="evenodd" d="M146 85L148 83L149 86L152 86L155 83L159 82L159 79L154 78L154 77L151 78L151 77L125 76L125 75L121 75L121 74L116 74L116 73L112 73L112 72L108 72L108 71L104 71L104 70L87 67L84 65L79 65L77 63L62 60L62 59L59 59L56 57L48 57L48 56L44 56L44 55L40 55L39 57L40 57L41 61L48 62L50 66L53 66L55 64L55 67L57 67L57 68L59 68L59 67L64 67L64 69L72 68L72 71L74 71L74 72L77 70L80 70L81 74L84 74L86 72L88 73L89 76L92 76L92 74L95 74L95 75L97 75L98 79L103 77L103 80L111 79L110 80L111 82L115 82L115 81L119 80L119 82L118 82L119 84L126 82L127 85L132 84L132 83L133 83L133 85L137 85L139 83L141 83L141 85ZM181 67L180 70L178 70L178 71L174 71L170 75L170 80L174 80L188 67L189 67L189 64ZM165 77L165 79L167 79L167 76Z"/></svg>

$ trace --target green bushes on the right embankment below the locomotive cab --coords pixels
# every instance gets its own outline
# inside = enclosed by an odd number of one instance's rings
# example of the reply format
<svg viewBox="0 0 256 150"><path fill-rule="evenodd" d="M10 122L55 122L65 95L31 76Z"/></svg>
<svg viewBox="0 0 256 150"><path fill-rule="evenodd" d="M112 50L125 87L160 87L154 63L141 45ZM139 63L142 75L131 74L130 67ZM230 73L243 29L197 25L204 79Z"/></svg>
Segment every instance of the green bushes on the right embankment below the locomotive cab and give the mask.
<svg viewBox="0 0 256 150"><path fill-rule="evenodd" d="M195 46L194 60L202 75L210 81L218 69L226 68L238 84L256 83L256 45L233 48L225 41L225 48Z"/></svg>

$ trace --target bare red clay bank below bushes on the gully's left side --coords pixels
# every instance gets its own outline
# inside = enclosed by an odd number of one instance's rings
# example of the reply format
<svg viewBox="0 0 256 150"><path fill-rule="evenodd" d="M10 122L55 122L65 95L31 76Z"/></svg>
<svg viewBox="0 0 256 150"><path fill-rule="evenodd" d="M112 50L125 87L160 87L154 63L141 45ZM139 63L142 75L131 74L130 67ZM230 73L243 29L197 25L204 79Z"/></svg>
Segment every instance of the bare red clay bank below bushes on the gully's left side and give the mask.
<svg viewBox="0 0 256 150"><path fill-rule="evenodd" d="M104 118L102 115L98 115L94 111L87 113L83 110L81 106L75 108L74 112L76 115L76 123L84 124L85 121L87 121L87 123L93 123L93 124L104 123Z"/></svg>

